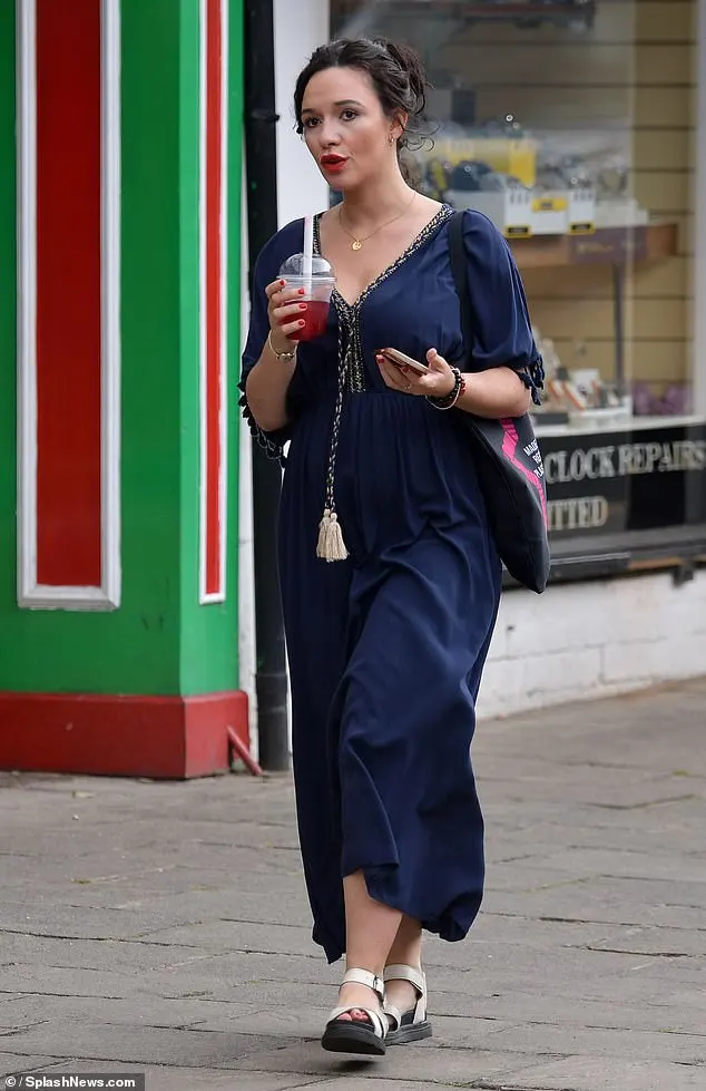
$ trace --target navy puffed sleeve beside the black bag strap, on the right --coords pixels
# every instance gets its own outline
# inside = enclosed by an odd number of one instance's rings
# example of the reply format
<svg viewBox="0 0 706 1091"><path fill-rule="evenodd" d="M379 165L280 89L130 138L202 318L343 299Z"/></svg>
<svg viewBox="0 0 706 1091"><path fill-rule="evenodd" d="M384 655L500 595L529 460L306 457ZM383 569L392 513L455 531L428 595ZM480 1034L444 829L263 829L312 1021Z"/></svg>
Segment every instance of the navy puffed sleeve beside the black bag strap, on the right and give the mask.
<svg viewBox="0 0 706 1091"><path fill-rule="evenodd" d="M480 212L464 215L474 370L512 368L540 403L545 369L535 343L522 279L504 237Z"/></svg>

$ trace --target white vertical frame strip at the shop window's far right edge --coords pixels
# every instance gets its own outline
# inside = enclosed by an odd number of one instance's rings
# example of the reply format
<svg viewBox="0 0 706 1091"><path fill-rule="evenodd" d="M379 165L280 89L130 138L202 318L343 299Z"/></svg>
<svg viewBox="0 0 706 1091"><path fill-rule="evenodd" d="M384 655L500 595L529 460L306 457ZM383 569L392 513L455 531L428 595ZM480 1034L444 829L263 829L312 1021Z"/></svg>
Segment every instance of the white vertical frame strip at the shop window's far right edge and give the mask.
<svg viewBox="0 0 706 1091"><path fill-rule="evenodd" d="M694 411L706 416L706 208L700 195L706 186L706 0L699 0L696 45L696 172L694 247Z"/></svg>

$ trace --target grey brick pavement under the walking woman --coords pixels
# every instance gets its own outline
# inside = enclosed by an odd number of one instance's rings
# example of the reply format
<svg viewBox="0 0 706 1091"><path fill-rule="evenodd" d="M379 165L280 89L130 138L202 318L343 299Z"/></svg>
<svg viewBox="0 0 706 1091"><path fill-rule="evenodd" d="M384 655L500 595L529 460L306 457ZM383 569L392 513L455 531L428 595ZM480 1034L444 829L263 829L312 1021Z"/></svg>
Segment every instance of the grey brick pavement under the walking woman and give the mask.
<svg viewBox="0 0 706 1091"><path fill-rule="evenodd" d="M434 1038L324 1053L288 778L0 773L0 1073L147 1091L706 1088L706 680L486 722L488 894Z"/></svg>

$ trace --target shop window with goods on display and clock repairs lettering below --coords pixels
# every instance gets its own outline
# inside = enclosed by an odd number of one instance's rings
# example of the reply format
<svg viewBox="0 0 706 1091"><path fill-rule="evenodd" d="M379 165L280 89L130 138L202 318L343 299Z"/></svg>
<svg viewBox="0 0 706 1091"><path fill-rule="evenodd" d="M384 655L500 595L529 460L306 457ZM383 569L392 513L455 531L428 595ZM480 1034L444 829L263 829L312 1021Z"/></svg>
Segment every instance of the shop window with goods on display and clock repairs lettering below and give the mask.
<svg viewBox="0 0 706 1091"><path fill-rule="evenodd" d="M537 427L558 557L704 553L698 7L332 2L334 37L419 51L433 89L418 185L484 212L521 269L548 372Z"/></svg>

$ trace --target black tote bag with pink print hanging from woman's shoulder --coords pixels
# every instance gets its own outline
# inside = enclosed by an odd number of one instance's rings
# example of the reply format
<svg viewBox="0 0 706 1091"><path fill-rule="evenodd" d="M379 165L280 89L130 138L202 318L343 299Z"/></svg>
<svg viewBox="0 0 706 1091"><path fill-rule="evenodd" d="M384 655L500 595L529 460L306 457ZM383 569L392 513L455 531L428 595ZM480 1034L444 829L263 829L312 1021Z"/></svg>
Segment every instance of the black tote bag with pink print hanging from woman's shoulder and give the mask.
<svg viewBox="0 0 706 1091"><path fill-rule="evenodd" d="M461 302L461 322L468 370L472 371L473 316L468 291L463 213L449 222L449 249L455 290ZM458 411L467 426L488 520L498 553L510 575L530 591L541 594L550 569L547 534L547 483L529 413L487 420Z"/></svg>

